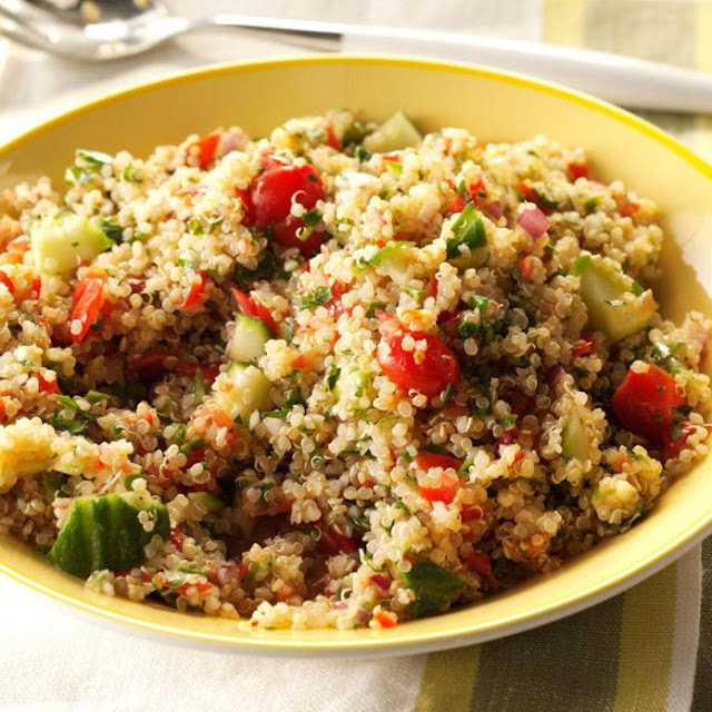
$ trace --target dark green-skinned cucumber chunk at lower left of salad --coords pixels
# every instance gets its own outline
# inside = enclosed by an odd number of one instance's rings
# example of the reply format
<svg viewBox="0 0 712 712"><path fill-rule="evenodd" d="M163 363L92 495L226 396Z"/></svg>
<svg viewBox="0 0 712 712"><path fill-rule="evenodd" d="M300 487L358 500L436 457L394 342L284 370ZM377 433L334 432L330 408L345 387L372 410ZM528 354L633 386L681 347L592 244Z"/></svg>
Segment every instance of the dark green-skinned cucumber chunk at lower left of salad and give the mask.
<svg viewBox="0 0 712 712"><path fill-rule="evenodd" d="M146 531L139 514L152 528ZM93 571L126 571L146 561L144 547L154 536L168 538L168 510L148 494L129 492L76 500L69 518L47 557L75 576Z"/></svg>

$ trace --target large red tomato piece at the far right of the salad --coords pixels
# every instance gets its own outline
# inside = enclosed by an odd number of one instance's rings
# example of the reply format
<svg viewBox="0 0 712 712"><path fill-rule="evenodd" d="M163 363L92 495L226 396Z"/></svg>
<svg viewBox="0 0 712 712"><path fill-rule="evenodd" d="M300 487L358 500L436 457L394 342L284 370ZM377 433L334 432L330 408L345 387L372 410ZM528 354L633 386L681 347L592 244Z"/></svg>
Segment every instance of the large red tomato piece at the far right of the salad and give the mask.
<svg viewBox="0 0 712 712"><path fill-rule="evenodd" d="M629 370L611 399L613 412L626 429L660 443L670 437L672 409L685 403L675 379L651 364L642 372Z"/></svg>

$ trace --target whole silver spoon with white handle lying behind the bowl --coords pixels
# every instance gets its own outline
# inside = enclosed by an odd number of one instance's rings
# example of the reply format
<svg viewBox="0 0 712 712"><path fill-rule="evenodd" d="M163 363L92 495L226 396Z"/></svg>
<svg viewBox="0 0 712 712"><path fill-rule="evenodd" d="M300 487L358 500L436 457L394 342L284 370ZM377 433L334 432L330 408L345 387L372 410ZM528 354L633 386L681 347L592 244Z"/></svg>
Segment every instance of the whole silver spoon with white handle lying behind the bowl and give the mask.
<svg viewBox="0 0 712 712"><path fill-rule="evenodd" d="M641 109L712 112L712 76L604 52L339 22L238 14L184 18L171 14L160 0L106 0L99 8L98 21L85 23L79 4L58 9L49 0L0 0L0 14L23 31L21 41L82 61L120 59L189 30L221 26L319 51L426 56L490 65Z"/></svg>

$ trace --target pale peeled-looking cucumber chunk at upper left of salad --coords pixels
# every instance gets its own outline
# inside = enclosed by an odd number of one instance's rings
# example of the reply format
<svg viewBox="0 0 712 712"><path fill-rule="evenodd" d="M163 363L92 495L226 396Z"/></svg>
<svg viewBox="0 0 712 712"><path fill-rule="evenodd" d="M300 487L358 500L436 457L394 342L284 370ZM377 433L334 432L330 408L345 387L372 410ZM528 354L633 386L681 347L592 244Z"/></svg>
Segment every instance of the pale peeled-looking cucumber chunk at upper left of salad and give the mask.
<svg viewBox="0 0 712 712"><path fill-rule="evenodd" d="M29 236L34 266L46 275L73 271L79 263L92 260L113 245L89 218L73 212L33 222Z"/></svg>

